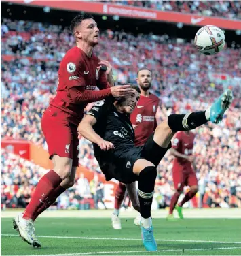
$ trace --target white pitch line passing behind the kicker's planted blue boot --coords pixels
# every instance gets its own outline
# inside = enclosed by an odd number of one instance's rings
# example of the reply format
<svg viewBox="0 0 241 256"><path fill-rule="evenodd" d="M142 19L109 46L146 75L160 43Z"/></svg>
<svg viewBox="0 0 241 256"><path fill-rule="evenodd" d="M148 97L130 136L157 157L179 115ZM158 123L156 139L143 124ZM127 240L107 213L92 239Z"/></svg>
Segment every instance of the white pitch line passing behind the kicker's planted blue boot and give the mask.
<svg viewBox="0 0 241 256"><path fill-rule="evenodd" d="M14 234L1 234L1 236L19 236ZM64 239L84 239L84 240L141 240L141 238L91 238L86 236L37 236L38 238L64 238ZM212 244L241 244L241 242L208 241L208 240L173 240L155 239L161 242L206 242Z"/></svg>

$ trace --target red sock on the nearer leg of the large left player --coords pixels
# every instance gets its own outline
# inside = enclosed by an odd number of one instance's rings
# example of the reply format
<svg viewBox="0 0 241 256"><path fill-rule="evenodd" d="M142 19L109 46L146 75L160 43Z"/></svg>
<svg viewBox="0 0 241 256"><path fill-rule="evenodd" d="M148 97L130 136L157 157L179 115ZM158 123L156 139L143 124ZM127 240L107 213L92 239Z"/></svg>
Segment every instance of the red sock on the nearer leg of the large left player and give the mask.
<svg viewBox="0 0 241 256"><path fill-rule="evenodd" d="M50 196L53 195L54 189L60 185L62 178L54 170L50 170L47 174L39 180L33 197L29 202L26 210L24 211L23 217L25 219L33 219L37 210L45 204L49 204Z"/></svg>

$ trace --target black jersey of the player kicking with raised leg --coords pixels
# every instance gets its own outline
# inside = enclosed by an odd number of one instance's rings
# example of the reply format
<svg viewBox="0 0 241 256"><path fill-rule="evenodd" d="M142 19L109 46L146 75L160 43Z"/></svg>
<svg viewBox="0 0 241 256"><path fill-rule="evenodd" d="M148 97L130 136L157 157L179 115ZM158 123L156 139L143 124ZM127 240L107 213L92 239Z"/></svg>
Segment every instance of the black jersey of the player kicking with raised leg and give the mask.
<svg viewBox="0 0 241 256"><path fill-rule="evenodd" d="M93 143L94 156L100 165L100 169L106 175L107 170L115 170L123 165L126 156L136 154L134 148L134 129L130 123L130 115L122 114L113 105L112 99L98 101L88 112L97 120L93 126L94 131L104 140L112 142L115 149L104 151ZM129 163L126 163L129 165Z"/></svg>

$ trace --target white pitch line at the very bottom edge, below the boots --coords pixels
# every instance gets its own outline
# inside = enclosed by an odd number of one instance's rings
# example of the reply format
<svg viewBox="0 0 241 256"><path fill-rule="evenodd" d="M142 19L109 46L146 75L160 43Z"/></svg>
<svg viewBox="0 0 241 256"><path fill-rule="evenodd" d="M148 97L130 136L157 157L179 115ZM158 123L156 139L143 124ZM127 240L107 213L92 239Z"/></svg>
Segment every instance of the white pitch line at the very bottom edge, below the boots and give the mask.
<svg viewBox="0 0 241 256"><path fill-rule="evenodd" d="M184 249L184 251L206 251L206 250L231 250L231 249L241 249L241 247L217 247L217 248L199 248L199 249ZM88 253L62 253L62 254L42 254L37 256L64 256L64 255L93 255L93 254L113 254L113 253L165 253L170 251L180 251L183 249L168 249L168 250L158 250L158 251L100 251L100 252L88 252ZM10 255L5 255L10 256ZM33 255L12 255L12 256L33 256Z"/></svg>

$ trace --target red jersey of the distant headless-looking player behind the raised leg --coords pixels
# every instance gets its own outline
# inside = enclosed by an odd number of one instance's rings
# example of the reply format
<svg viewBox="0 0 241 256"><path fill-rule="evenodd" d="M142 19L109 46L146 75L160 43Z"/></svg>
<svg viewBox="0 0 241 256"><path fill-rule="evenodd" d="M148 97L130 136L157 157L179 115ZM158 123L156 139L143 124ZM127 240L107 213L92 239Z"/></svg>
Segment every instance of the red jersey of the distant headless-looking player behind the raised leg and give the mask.
<svg viewBox="0 0 241 256"><path fill-rule="evenodd" d="M179 131L174 135L174 140L172 142L172 148L177 150L177 152L184 154L184 155L192 155L193 154L193 142L194 142L195 134L189 132L189 134L185 133L184 131ZM182 167L191 167L191 162L187 159L181 157L175 157L173 168L178 166Z"/></svg>

